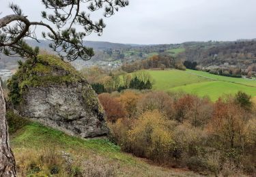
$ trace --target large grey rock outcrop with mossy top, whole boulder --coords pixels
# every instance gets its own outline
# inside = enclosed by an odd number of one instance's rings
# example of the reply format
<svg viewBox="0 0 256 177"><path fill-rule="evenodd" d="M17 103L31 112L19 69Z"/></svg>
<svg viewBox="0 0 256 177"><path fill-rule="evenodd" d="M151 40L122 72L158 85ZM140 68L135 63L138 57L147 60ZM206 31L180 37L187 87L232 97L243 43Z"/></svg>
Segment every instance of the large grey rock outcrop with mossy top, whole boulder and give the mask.
<svg viewBox="0 0 256 177"><path fill-rule="evenodd" d="M106 135L104 110L87 81L53 56L26 61L9 81L10 100L21 116L83 138Z"/></svg>

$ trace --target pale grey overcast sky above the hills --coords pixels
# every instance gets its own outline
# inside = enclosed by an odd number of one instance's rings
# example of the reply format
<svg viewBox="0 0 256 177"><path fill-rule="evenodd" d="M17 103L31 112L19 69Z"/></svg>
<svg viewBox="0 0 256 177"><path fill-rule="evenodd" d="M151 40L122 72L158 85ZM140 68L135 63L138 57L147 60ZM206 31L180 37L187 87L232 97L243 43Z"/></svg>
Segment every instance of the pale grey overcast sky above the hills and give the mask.
<svg viewBox="0 0 256 177"><path fill-rule="evenodd" d="M10 2L20 5L29 19L41 20L40 0L0 0L0 17L11 13ZM256 38L255 7L255 0L130 0L128 7L104 19L101 37L86 39L124 44L251 39Z"/></svg>

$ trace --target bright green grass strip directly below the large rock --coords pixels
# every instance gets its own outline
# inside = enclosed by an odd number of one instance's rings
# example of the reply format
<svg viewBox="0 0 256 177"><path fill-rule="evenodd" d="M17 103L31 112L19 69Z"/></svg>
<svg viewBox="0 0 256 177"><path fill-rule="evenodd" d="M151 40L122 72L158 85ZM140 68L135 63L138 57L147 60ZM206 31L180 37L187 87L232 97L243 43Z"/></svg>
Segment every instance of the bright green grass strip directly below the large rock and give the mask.
<svg viewBox="0 0 256 177"><path fill-rule="evenodd" d="M14 147L25 144L27 148L36 148L38 144L41 144L43 146L58 146L65 150L71 150L74 147L87 148L94 152L114 152L116 155L122 155L119 146L109 142L109 140L83 140L33 122L27 123L25 127L15 133L12 136L11 143ZM129 161L130 159L126 160Z"/></svg>

